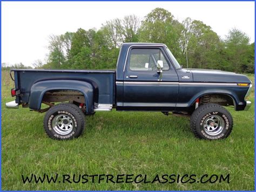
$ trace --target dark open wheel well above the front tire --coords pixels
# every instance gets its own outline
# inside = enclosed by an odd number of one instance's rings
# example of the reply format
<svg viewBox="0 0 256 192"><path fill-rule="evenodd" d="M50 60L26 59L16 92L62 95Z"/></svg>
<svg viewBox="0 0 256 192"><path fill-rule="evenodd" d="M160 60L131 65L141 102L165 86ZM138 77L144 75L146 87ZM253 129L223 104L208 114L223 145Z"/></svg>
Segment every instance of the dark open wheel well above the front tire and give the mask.
<svg viewBox="0 0 256 192"><path fill-rule="evenodd" d="M235 106L235 102L230 95L226 94L207 94L199 98L199 105L214 103L221 106Z"/></svg>

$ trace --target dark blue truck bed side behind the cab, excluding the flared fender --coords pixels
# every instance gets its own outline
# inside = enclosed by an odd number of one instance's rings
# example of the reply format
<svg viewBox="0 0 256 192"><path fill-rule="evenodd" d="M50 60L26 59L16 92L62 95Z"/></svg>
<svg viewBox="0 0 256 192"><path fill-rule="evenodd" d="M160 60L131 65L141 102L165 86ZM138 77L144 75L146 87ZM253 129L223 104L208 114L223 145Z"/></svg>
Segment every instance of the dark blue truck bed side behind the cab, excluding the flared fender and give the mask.
<svg viewBox="0 0 256 192"><path fill-rule="evenodd" d="M116 71L112 70L23 70L12 69L15 77L15 88L21 91L16 102L28 103L33 84L42 80L83 80L91 81L98 88L99 104L114 104L114 82Z"/></svg>

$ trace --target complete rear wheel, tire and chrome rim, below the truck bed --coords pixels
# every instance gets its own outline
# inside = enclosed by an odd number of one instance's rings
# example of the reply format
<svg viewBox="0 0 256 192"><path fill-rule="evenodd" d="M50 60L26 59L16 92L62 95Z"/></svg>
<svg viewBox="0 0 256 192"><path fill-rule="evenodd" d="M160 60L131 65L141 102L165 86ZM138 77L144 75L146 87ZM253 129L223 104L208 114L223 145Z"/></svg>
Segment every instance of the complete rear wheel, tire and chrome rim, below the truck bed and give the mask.
<svg viewBox="0 0 256 192"><path fill-rule="evenodd" d="M65 115L65 116L61 116ZM66 117L70 121L70 125L67 124L69 131L66 131L66 134L60 129L60 126L55 124L56 118L64 120ZM66 122L66 121L65 121ZM61 124L60 124L61 125ZM66 125L66 124L63 124ZM44 116L44 130L46 134L57 140L69 140L73 138L78 138L83 131L85 126L85 119L82 110L71 103L62 103L51 107ZM65 127L65 126L64 126ZM63 128L64 128L63 127ZM65 129L65 128L64 128Z"/></svg>

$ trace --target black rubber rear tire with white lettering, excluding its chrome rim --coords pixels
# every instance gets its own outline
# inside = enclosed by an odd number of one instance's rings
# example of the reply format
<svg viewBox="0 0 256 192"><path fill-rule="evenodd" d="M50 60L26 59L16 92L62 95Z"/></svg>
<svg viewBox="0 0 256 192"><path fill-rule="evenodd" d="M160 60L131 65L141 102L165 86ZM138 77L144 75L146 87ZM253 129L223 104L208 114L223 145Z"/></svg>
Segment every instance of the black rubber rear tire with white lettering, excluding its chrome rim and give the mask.
<svg viewBox="0 0 256 192"><path fill-rule="evenodd" d="M46 133L50 136L50 138L59 140L69 140L77 138L80 134L82 134L84 129L84 120L81 117L81 114L75 108L73 108L74 106L69 105L57 105L51 108L45 115L44 128ZM73 129L69 134L61 135L55 132L55 130L53 129L52 120L55 118L55 116L59 114L69 115L70 118L73 120Z"/></svg>

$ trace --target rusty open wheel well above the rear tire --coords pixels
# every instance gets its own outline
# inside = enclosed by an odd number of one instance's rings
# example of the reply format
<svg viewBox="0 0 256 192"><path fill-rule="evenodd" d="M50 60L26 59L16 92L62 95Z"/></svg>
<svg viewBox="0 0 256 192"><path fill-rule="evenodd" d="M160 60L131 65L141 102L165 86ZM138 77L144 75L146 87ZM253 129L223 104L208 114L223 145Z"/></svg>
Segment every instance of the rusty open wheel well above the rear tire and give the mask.
<svg viewBox="0 0 256 192"><path fill-rule="evenodd" d="M42 102L79 102L85 104L85 97L82 92L75 90L50 90L47 91Z"/></svg>

